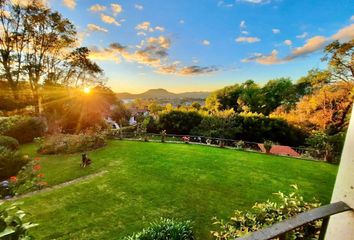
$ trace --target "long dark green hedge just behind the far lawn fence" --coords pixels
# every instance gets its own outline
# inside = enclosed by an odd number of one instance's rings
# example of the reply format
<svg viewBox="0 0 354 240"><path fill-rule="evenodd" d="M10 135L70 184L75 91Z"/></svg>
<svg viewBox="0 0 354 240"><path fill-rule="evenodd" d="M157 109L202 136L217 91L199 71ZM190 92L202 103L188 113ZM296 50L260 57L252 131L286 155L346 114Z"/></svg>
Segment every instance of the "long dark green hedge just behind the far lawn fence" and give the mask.
<svg viewBox="0 0 354 240"><path fill-rule="evenodd" d="M144 121L147 132L159 133L166 130L171 134L191 134L214 138L242 139L250 142L271 140L284 145L299 146L307 137L281 119L264 116L202 116L194 111L173 110L163 112L158 120L148 117Z"/></svg>

